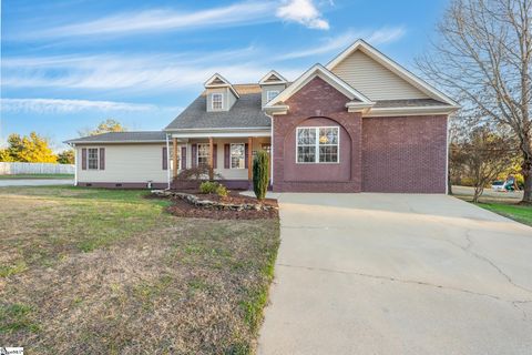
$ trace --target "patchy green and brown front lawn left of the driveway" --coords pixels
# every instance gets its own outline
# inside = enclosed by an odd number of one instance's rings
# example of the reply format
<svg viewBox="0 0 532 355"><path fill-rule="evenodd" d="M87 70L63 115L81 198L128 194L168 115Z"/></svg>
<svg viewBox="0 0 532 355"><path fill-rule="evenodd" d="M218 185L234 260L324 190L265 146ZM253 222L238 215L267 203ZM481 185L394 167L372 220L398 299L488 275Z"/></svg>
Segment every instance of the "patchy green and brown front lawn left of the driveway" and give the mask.
<svg viewBox="0 0 532 355"><path fill-rule="evenodd" d="M0 344L254 352L277 220L181 219L143 191L0 187Z"/></svg>

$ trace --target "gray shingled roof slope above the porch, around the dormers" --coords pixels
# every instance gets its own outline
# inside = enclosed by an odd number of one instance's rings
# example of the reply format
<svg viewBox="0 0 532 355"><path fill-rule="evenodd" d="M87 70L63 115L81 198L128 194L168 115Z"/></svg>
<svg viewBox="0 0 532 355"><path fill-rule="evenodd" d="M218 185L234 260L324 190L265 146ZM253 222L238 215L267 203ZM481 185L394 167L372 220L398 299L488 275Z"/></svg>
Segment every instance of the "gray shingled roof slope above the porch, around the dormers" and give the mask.
<svg viewBox="0 0 532 355"><path fill-rule="evenodd" d="M207 112L203 93L192 102L166 130L269 128L270 120L262 111L260 92L243 93L229 111Z"/></svg>

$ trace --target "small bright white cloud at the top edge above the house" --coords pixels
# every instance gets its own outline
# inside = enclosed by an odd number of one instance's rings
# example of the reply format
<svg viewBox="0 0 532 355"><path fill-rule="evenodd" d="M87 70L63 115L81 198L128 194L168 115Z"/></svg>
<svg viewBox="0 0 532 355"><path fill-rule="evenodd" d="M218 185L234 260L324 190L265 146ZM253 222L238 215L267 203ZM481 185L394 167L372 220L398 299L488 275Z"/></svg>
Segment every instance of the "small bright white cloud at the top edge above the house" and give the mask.
<svg viewBox="0 0 532 355"><path fill-rule="evenodd" d="M311 0L285 0L276 16L285 21L301 23L310 29L328 30L329 22L321 18Z"/></svg>

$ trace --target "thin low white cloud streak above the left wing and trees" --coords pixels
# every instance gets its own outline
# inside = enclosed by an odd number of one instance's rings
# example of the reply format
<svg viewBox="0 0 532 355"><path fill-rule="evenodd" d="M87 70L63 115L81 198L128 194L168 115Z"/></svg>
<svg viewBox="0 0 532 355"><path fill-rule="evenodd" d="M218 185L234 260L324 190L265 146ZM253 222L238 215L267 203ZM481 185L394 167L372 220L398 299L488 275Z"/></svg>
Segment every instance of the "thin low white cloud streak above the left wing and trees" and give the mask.
<svg viewBox="0 0 532 355"><path fill-rule="evenodd" d="M69 113L80 111L152 111L153 104L66 99L1 99L2 112Z"/></svg>

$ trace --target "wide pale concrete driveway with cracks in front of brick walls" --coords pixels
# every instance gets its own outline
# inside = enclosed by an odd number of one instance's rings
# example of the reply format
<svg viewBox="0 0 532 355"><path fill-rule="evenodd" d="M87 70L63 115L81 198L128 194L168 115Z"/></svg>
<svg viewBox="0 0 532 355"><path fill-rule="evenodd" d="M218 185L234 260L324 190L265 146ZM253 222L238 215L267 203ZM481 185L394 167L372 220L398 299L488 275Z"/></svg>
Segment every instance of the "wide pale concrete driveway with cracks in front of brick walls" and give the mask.
<svg viewBox="0 0 532 355"><path fill-rule="evenodd" d="M532 354L532 229L444 195L283 194L259 354Z"/></svg>

